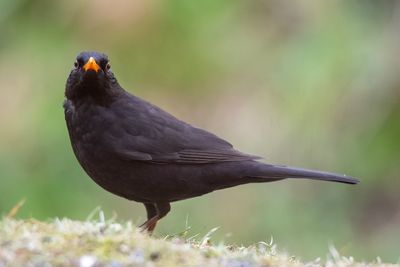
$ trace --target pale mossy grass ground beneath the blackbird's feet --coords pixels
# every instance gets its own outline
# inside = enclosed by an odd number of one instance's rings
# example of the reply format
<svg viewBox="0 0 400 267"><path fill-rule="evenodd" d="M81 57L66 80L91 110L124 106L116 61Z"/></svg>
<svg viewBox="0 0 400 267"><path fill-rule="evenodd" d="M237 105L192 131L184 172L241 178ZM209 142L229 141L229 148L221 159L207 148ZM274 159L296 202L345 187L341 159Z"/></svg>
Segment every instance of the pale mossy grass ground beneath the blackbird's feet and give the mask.
<svg viewBox="0 0 400 267"><path fill-rule="evenodd" d="M202 238L188 236L150 237L131 222L54 219L16 220L9 216L0 221L0 266L400 266L355 262L340 256L334 248L325 260L302 262L278 252L273 242L249 247L212 244L212 229ZM90 216L92 217L92 216ZM197 239L198 238L198 239Z"/></svg>

